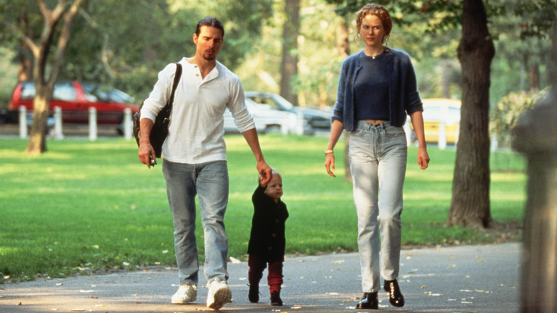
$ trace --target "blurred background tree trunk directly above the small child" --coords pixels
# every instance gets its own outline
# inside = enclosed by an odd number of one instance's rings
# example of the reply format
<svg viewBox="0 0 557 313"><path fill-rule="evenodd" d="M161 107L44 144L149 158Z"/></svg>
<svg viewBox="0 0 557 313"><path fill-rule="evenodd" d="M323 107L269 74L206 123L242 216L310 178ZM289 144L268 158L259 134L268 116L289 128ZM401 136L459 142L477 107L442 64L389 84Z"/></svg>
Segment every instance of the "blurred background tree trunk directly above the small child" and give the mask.
<svg viewBox="0 0 557 313"><path fill-rule="evenodd" d="M292 92L291 80L298 74L298 56L292 50L298 46L300 33L300 0L286 0L286 22L282 33L281 96L298 106L298 96Z"/></svg>

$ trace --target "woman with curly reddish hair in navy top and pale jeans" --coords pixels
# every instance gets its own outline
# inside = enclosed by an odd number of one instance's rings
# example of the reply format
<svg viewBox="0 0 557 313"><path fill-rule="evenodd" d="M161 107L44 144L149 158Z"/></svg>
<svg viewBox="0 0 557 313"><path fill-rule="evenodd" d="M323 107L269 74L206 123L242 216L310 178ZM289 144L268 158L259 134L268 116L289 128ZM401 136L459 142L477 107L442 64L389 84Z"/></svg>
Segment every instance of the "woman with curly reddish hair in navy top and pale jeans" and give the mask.
<svg viewBox="0 0 557 313"><path fill-rule="evenodd" d="M410 57L385 44L392 25L388 11L377 4L367 4L356 14L356 36L365 46L343 62L331 138L325 150L326 170L335 177L334 146L343 129L351 131L348 155L358 215L363 289L356 309L378 308L380 274L389 302L395 307L404 305L397 279L407 156L402 126L406 114L416 131L418 164L426 169L429 163L423 135L423 106Z"/></svg>

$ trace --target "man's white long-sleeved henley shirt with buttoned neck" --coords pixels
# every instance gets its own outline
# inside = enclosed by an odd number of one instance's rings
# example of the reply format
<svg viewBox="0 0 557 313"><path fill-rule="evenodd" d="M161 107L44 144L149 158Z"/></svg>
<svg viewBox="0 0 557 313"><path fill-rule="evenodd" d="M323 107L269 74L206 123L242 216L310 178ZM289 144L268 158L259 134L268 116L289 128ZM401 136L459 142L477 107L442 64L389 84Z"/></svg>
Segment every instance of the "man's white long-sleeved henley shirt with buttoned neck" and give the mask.
<svg viewBox="0 0 557 313"><path fill-rule="evenodd" d="M169 136L162 146L163 159L186 164L226 161L224 111L234 116L239 131L255 128L246 107L241 81L232 71L216 61L204 78L197 64L188 58L179 62L182 76L174 94ZM159 80L144 101L141 119L155 120L169 99L176 65L169 64L159 72Z"/></svg>

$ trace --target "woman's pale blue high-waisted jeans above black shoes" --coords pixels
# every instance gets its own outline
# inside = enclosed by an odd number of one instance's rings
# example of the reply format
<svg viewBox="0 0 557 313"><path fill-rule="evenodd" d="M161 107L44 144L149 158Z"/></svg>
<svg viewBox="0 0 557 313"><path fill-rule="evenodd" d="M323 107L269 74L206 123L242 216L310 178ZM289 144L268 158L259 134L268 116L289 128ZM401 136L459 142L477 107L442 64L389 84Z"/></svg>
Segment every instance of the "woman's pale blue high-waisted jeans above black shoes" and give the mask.
<svg viewBox="0 0 557 313"><path fill-rule="evenodd" d="M398 278L407 147L404 129L389 123L373 125L358 121L350 136L363 292L381 289L380 277Z"/></svg>

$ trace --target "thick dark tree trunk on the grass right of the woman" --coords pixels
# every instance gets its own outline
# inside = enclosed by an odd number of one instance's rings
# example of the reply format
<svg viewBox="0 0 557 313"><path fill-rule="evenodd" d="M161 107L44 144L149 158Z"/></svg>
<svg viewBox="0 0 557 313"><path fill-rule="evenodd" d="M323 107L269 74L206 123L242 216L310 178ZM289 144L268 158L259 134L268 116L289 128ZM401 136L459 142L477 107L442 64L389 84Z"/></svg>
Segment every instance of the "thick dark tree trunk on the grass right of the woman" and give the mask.
<svg viewBox="0 0 557 313"><path fill-rule="evenodd" d="M489 85L495 48L488 31L482 0L463 1L461 131L453 176L448 225L489 227Z"/></svg>

